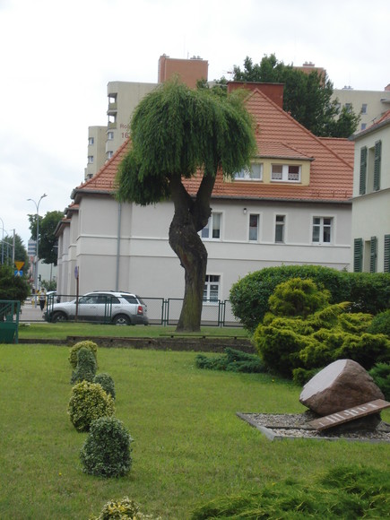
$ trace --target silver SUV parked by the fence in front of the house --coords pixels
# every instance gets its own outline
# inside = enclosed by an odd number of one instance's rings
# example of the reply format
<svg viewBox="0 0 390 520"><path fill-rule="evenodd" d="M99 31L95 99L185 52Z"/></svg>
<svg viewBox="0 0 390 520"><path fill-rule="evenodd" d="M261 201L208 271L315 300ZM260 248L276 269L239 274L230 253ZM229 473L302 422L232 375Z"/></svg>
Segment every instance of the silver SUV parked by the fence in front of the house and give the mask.
<svg viewBox="0 0 390 520"><path fill-rule="evenodd" d="M95 290L78 300L48 305L43 317L50 322L68 319L97 321L115 325L149 325L147 308L143 300L130 292Z"/></svg>

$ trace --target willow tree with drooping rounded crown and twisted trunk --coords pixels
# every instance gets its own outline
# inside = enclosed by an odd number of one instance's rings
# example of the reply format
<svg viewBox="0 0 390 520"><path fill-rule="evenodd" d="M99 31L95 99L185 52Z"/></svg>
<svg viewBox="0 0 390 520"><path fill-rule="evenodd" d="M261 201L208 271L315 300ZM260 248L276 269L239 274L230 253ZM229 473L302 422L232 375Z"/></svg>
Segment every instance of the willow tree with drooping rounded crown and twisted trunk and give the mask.
<svg viewBox="0 0 390 520"><path fill-rule="evenodd" d="M243 94L218 96L166 82L134 111L131 148L117 175L117 197L135 204L171 200L174 216L169 245L185 269L185 294L178 331L200 329L207 251L199 237L211 215L218 171L232 178L255 152L252 119ZM183 184L202 176L197 193Z"/></svg>

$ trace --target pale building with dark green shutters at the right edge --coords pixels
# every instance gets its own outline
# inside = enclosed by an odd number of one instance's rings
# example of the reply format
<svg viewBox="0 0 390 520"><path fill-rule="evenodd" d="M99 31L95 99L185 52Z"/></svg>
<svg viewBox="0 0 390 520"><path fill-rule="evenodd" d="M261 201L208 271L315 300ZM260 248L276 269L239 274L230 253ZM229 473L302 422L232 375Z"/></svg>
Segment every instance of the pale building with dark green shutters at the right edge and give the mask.
<svg viewBox="0 0 390 520"><path fill-rule="evenodd" d="M390 110L351 139L353 271L390 273Z"/></svg>

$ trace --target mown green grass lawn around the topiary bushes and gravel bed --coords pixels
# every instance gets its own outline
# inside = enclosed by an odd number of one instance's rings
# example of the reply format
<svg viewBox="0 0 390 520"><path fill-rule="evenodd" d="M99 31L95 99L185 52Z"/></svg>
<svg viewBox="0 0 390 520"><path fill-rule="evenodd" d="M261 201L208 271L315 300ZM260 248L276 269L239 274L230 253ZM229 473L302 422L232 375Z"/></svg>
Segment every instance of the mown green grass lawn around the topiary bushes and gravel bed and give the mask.
<svg viewBox="0 0 390 520"><path fill-rule="evenodd" d="M108 499L124 496L144 513L186 519L212 498L286 477L310 481L336 464L388 467L390 445L271 442L236 417L303 412L299 387L281 379L199 370L194 352L99 349L99 371L116 384L116 417L134 438L133 467L119 479L92 477L79 463L86 434L76 432L66 413L68 353L0 345L2 519L88 519ZM390 412L383 418L390 420Z"/></svg>

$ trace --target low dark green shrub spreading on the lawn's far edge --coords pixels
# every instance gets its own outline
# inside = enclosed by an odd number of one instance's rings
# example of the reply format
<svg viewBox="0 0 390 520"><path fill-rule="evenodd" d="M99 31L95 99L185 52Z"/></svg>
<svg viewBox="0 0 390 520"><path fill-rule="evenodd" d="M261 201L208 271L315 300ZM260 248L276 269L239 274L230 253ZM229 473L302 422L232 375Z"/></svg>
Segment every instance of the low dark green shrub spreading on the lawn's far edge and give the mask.
<svg viewBox="0 0 390 520"><path fill-rule="evenodd" d="M195 366L228 372L264 372L264 364L258 356L230 348L225 349L224 355L213 358L198 354L195 358Z"/></svg>

